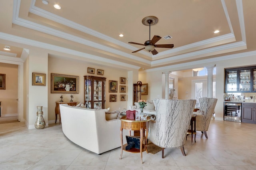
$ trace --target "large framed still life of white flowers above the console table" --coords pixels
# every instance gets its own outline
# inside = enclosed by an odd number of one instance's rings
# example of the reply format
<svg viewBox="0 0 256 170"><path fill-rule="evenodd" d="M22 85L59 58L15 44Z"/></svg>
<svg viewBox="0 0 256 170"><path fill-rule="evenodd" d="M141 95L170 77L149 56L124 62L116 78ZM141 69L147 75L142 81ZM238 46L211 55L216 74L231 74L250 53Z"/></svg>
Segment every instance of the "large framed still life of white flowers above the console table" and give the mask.
<svg viewBox="0 0 256 170"><path fill-rule="evenodd" d="M79 76L51 73L51 93L78 94Z"/></svg>

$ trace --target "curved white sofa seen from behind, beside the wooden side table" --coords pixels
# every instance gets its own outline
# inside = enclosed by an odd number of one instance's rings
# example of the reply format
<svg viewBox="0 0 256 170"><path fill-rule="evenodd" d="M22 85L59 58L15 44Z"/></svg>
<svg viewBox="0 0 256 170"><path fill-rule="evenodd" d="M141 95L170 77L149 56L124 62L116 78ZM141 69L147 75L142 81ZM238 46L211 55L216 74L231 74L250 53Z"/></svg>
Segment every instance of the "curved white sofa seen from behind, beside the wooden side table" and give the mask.
<svg viewBox="0 0 256 170"><path fill-rule="evenodd" d="M60 115L63 133L75 144L96 154L121 146L121 121L106 121L104 109L85 109L60 104ZM124 139L125 135L128 135L128 130L123 131Z"/></svg>

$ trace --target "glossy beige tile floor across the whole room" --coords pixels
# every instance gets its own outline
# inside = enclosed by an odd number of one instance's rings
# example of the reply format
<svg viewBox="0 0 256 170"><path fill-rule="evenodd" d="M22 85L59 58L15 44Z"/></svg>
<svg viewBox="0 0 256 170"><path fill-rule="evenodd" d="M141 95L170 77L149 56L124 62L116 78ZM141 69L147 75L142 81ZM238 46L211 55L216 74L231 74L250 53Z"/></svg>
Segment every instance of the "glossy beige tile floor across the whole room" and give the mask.
<svg viewBox="0 0 256 170"><path fill-rule="evenodd" d="M140 154L120 148L98 155L70 142L61 125L28 130L24 123L0 124L1 170L255 170L256 125L212 120L208 139L197 132L196 143L188 136L184 146L161 152ZM194 142L194 141L193 141Z"/></svg>

